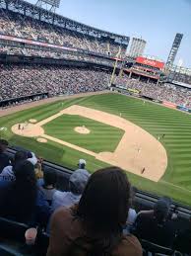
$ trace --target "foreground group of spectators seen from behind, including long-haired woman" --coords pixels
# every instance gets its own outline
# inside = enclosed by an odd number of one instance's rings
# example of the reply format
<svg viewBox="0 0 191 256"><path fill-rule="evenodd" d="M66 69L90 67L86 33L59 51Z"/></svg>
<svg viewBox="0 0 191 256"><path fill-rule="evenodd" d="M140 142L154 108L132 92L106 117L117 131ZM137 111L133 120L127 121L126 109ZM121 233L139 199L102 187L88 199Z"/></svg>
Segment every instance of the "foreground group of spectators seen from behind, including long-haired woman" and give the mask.
<svg viewBox="0 0 191 256"><path fill-rule="evenodd" d="M122 169L107 167L91 175L80 159L68 189L60 191L53 168L24 149L12 158L7 146L0 139L0 217L45 228L47 256L141 256L143 239L191 255L191 224L177 228L178 215L167 197L137 213L136 189Z"/></svg>

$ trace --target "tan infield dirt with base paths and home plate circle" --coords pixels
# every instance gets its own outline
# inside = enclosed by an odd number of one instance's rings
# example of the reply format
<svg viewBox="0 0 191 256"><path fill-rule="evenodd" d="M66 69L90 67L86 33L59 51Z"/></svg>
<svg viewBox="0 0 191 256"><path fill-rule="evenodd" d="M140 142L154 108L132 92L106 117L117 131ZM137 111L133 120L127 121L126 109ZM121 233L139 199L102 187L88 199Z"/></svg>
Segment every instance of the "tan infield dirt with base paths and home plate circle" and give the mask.
<svg viewBox="0 0 191 256"><path fill-rule="evenodd" d="M62 115L79 115L111 127L123 129L125 132L114 152L95 153L44 133L42 126ZM36 124L28 124L24 129L19 129L19 124L16 124L12 127L12 131L18 135L40 136L41 138L69 146L75 150L90 154L110 165L119 166L156 182L162 177L167 167L167 156L164 147L157 138L145 129L121 117L78 105L66 108ZM145 171L142 172L144 168Z"/></svg>

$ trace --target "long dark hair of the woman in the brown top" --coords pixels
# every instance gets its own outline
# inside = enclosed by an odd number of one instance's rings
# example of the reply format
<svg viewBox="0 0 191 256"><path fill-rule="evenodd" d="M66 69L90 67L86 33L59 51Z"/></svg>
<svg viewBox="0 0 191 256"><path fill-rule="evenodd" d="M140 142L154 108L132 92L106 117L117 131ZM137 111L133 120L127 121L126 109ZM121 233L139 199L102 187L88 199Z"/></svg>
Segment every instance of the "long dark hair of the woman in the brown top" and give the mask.
<svg viewBox="0 0 191 256"><path fill-rule="evenodd" d="M89 179L77 214L95 231L121 235L126 222L131 185L119 167L96 171Z"/></svg>

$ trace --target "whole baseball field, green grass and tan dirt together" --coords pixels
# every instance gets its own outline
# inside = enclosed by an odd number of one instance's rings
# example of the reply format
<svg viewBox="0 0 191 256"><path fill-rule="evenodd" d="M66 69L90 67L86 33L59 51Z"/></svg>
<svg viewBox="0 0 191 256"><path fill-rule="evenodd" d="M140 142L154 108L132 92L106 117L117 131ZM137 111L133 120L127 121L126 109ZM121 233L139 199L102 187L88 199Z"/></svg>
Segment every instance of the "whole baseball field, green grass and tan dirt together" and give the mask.
<svg viewBox="0 0 191 256"><path fill-rule="evenodd" d="M191 206L190 115L114 93L25 108L0 118L11 145L72 169L118 165L139 189Z"/></svg>

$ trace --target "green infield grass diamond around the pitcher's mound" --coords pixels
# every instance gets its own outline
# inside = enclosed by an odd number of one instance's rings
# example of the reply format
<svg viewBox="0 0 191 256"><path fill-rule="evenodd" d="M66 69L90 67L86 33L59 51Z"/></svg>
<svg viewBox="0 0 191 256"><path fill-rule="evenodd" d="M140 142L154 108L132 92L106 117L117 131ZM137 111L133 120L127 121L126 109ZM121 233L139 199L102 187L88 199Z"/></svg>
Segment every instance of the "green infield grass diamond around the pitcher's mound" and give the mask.
<svg viewBox="0 0 191 256"><path fill-rule="evenodd" d="M74 130L85 126L91 132L81 134ZM113 152L124 130L107 126L77 115L63 115L43 126L45 134L70 142L96 153Z"/></svg>

